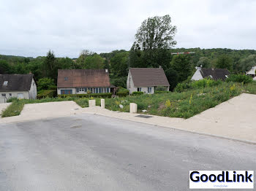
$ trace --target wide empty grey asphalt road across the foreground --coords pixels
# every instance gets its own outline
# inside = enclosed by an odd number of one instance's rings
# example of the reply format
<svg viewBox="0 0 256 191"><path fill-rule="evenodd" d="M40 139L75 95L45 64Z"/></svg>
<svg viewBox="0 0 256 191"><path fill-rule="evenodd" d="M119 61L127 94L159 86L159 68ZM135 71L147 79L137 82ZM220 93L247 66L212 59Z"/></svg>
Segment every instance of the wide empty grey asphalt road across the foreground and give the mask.
<svg viewBox="0 0 256 191"><path fill-rule="evenodd" d="M188 190L189 170L254 170L256 145L94 114L0 124L0 190Z"/></svg>

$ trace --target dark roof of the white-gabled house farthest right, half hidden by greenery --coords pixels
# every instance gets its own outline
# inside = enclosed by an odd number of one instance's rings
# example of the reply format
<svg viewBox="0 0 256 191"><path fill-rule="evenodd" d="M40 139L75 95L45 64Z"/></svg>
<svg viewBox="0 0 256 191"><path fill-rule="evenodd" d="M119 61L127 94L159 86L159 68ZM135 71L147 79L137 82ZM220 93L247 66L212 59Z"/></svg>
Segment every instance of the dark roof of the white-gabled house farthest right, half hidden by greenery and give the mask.
<svg viewBox="0 0 256 191"><path fill-rule="evenodd" d="M212 79L226 79L227 75L230 74L230 72L227 69L200 69L200 73L202 74L202 77L212 77Z"/></svg>

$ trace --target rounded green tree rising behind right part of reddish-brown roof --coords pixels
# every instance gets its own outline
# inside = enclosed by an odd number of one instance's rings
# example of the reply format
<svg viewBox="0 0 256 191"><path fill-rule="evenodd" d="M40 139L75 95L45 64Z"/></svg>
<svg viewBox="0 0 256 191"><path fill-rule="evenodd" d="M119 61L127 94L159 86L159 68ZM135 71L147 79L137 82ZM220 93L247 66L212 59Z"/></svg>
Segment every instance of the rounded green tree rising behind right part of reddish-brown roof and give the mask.
<svg viewBox="0 0 256 191"><path fill-rule="evenodd" d="M84 63L82 68L83 69L104 69L105 64L104 64L104 59L97 54L88 56Z"/></svg>

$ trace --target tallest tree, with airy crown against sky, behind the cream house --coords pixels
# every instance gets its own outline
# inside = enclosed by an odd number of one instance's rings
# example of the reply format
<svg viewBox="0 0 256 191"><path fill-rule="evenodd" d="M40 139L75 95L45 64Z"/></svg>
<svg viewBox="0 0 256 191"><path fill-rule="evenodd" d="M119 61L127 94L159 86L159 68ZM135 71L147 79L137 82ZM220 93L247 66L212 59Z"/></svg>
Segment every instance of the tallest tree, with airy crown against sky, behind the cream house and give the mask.
<svg viewBox="0 0 256 191"><path fill-rule="evenodd" d="M135 42L131 48L132 65L136 66L139 60L138 65L140 67L155 68L161 64L163 69L167 68L170 63L168 49L176 44L173 39L176 31L176 26L172 26L169 15L148 17L144 20L135 34Z"/></svg>

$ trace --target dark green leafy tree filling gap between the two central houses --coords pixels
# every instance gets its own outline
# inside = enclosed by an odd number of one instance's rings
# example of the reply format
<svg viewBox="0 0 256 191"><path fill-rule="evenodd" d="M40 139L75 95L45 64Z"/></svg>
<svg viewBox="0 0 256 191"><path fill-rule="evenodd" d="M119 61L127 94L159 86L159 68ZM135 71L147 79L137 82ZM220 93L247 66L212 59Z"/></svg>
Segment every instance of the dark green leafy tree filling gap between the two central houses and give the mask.
<svg viewBox="0 0 256 191"><path fill-rule="evenodd" d="M128 74L129 52L117 53L110 59L110 71L115 77L126 77Z"/></svg>

